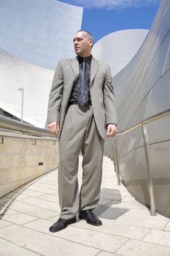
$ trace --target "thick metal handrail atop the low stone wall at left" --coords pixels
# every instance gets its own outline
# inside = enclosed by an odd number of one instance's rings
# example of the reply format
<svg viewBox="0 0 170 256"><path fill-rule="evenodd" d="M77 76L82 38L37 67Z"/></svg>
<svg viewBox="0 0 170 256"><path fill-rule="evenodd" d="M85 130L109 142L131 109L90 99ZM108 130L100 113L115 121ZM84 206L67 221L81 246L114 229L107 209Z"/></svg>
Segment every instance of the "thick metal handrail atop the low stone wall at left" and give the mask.
<svg viewBox="0 0 170 256"><path fill-rule="evenodd" d="M50 131L47 129L34 127L30 124L24 124L20 121L12 120L4 116L0 116L0 128L7 129L10 131L23 132L26 135L53 137L56 139L56 137L51 135Z"/></svg>

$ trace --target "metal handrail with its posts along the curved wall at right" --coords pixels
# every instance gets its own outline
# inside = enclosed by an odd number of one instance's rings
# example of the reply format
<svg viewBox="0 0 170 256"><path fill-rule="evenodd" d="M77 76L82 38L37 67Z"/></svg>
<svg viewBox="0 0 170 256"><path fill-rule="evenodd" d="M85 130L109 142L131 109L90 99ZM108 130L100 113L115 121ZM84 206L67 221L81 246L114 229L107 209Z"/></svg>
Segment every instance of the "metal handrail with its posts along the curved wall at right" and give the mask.
<svg viewBox="0 0 170 256"><path fill-rule="evenodd" d="M159 118L163 118L163 117L169 116L169 115L170 115L170 108L167 110L161 111L160 113L157 113L153 116L150 116L149 118L146 118L143 121L141 121L137 124L134 124L133 126L129 127L128 129L124 129L123 131L118 132L114 138L117 184L120 185L120 165L119 165L119 156L118 156L116 138L117 138L117 136L124 135L138 127L142 127L143 139L144 139L144 152L145 152L145 158L146 158L146 164L147 164L147 178L148 178L148 186L149 186L149 193L150 193L151 215L156 215L156 209L155 209L155 197L154 197L154 191L153 191L153 182L152 182L152 170L151 170L151 163L150 163L150 148L149 148L149 140L148 140L148 135L147 135L147 124L152 121L158 120Z"/></svg>

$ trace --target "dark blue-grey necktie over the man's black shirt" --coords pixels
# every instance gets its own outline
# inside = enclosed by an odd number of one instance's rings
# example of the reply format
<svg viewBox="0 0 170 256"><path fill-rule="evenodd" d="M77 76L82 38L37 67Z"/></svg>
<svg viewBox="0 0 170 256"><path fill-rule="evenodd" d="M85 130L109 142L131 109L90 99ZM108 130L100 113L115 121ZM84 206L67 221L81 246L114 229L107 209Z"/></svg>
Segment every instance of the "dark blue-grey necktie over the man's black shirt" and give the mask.
<svg viewBox="0 0 170 256"><path fill-rule="evenodd" d="M80 75L78 80L77 102L80 105L85 105L88 102L88 87L89 87L89 75L88 75L88 63L85 59L80 64Z"/></svg>

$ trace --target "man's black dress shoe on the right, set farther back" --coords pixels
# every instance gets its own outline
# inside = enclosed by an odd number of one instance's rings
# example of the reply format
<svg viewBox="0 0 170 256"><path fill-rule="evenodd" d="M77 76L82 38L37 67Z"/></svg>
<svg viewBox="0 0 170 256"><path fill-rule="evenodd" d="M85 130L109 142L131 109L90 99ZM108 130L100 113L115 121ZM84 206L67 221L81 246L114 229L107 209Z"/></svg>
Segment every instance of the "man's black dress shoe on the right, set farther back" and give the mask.
<svg viewBox="0 0 170 256"><path fill-rule="evenodd" d="M96 217L95 214L93 214L92 210L80 211L79 217L80 219L85 219L86 222L88 222L88 224L90 225L94 225L94 226L102 225L101 220L98 219L98 217Z"/></svg>

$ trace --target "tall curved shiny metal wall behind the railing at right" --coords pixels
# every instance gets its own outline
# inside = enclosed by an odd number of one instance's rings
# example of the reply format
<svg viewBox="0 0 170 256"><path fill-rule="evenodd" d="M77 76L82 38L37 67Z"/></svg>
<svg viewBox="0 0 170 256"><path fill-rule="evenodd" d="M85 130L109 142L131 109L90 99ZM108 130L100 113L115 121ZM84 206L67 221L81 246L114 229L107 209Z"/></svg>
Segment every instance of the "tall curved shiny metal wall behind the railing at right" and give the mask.
<svg viewBox="0 0 170 256"><path fill-rule="evenodd" d="M115 75L118 131L169 108L170 1L163 0L142 47ZM147 124L156 211L170 217L170 117ZM105 143L111 156L112 144ZM142 128L117 137L121 178L128 190L150 205Z"/></svg>

